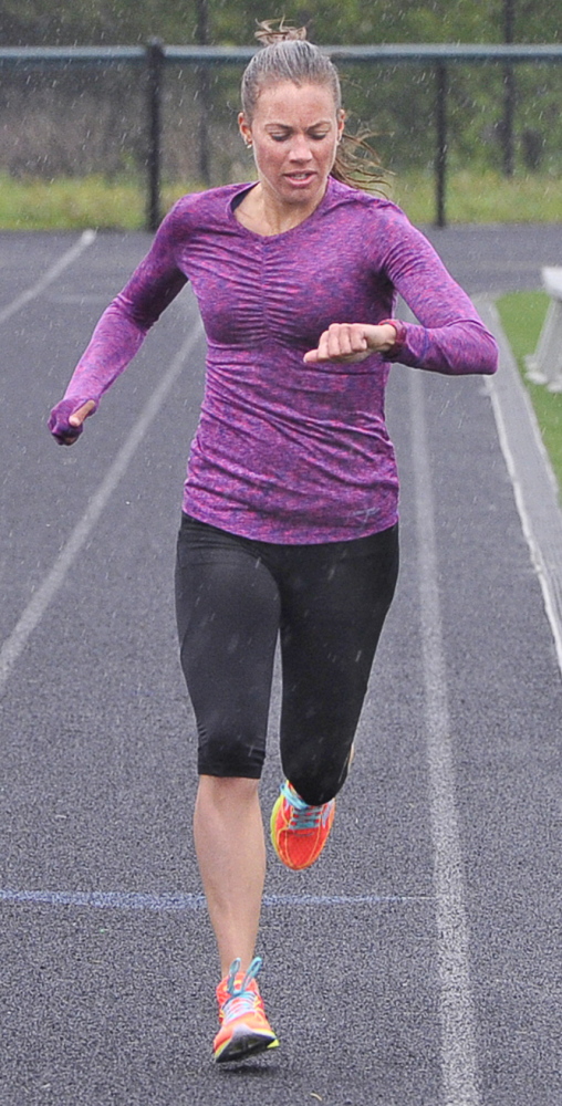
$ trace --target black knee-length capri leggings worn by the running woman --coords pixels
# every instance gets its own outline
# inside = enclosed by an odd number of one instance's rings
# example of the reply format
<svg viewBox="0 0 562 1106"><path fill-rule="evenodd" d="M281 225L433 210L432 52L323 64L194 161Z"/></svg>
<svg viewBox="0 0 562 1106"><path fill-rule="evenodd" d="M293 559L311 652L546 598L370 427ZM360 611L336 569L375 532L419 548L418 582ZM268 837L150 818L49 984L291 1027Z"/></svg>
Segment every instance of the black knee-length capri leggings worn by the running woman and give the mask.
<svg viewBox="0 0 562 1106"><path fill-rule="evenodd" d="M397 525L274 545L184 514L176 612L200 774L260 778L279 634L283 771L310 804L336 794L397 573Z"/></svg>

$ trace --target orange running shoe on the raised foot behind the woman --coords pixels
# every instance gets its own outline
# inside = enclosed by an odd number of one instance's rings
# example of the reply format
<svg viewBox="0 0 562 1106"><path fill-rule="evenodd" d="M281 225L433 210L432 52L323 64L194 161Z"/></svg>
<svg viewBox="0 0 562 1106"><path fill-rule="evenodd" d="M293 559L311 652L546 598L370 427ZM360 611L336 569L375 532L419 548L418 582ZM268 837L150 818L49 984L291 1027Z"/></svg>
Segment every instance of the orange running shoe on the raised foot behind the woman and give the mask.
<svg viewBox="0 0 562 1106"><path fill-rule="evenodd" d="M271 812L271 841L279 859L299 872L318 860L332 828L335 799L322 806L309 806L289 780Z"/></svg>

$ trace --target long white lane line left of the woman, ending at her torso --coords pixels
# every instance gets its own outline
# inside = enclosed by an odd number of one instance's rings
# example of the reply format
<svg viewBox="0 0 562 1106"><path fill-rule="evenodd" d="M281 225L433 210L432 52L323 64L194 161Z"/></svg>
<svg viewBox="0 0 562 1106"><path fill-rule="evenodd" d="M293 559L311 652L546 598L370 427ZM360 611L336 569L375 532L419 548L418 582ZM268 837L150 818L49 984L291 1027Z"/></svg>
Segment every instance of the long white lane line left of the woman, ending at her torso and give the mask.
<svg viewBox="0 0 562 1106"><path fill-rule="evenodd" d="M170 388L181 373L187 358L199 342L201 334L202 326L200 322L198 322L189 337L186 338L184 345L176 354L168 371L162 377L158 387L153 392L150 398L146 403L128 437L119 449L113 465L110 467L106 476L102 480L102 483L97 488L97 491L95 491L92 495L86 510L74 526L74 530L72 531L66 544L61 550L52 568L43 578L37 592L34 592L9 638L2 645L2 648L0 649L0 695L4 691L6 684L15 661L21 656L31 634L41 622L41 618L43 617L50 603L52 603L59 588L63 584L66 573L71 568L73 562L84 545L84 542L87 540L93 528L95 526L105 504L115 491L121 478L126 472L136 449L140 445L148 427L150 426L150 422L158 414ZM72 446L70 448L76 449L76 446Z"/></svg>

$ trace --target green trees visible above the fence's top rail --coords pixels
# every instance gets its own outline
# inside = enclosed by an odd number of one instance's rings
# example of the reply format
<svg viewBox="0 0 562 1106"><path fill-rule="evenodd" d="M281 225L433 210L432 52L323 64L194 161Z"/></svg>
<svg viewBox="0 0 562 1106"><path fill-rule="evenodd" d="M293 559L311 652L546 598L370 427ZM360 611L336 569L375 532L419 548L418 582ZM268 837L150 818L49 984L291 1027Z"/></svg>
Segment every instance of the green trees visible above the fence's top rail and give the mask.
<svg viewBox="0 0 562 1106"><path fill-rule="evenodd" d="M319 43L501 42L503 2L490 0L308 0L279 13L310 29ZM214 43L251 44L256 21L275 14L263 0L208 0ZM195 0L1 0L4 44L134 44L157 35L196 39ZM514 0L514 41L560 42L559 0Z"/></svg>

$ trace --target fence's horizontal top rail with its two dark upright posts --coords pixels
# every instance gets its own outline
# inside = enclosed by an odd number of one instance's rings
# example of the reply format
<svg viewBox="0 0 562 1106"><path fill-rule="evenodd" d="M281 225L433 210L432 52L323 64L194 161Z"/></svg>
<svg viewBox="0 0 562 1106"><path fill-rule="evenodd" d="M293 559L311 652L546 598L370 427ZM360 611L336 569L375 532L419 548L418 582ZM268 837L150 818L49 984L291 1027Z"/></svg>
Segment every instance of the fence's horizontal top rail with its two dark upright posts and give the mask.
<svg viewBox="0 0 562 1106"><path fill-rule="evenodd" d="M435 74L435 223L445 227L449 67L459 63L492 63L511 66L520 63L562 62L561 44L460 44L327 45L322 48L339 64L346 62L418 63L431 66ZM209 66L244 65L256 49L251 46L168 46L153 40L144 46L4 46L0 49L0 70L43 69L73 65L138 65L147 75L147 205L146 225L155 230L160 220L162 103L166 65L183 64L207 72ZM509 105L508 105L509 108Z"/></svg>

